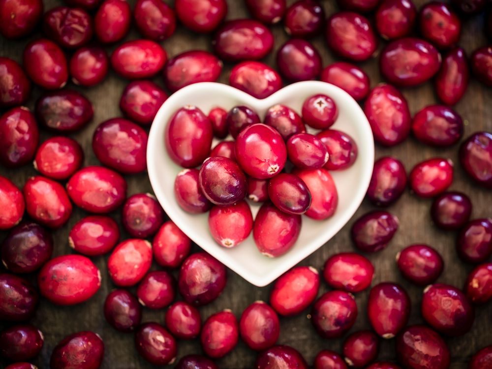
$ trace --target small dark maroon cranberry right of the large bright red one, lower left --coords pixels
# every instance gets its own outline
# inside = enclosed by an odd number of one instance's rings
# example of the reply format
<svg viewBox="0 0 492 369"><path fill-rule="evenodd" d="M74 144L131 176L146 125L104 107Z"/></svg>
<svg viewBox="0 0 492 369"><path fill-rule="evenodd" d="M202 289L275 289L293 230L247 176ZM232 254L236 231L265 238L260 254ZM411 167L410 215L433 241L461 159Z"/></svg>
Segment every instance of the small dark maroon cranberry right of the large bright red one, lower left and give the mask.
<svg viewBox="0 0 492 369"><path fill-rule="evenodd" d="M142 319L142 307L130 292L114 290L104 301L104 317L116 330L133 332Z"/></svg>

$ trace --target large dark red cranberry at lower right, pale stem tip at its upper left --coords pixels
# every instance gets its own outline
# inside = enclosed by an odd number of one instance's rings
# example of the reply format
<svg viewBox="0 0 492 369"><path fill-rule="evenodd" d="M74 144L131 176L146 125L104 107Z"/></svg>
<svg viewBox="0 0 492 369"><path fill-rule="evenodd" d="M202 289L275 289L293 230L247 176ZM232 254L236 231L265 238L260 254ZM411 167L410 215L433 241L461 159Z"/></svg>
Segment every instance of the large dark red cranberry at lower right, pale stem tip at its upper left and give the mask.
<svg viewBox="0 0 492 369"><path fill-rule="evenodd" d="M448 336L468 332L475 312L464 293L448 284L431 284L422 296L422 316L437 331Z"/></svg>

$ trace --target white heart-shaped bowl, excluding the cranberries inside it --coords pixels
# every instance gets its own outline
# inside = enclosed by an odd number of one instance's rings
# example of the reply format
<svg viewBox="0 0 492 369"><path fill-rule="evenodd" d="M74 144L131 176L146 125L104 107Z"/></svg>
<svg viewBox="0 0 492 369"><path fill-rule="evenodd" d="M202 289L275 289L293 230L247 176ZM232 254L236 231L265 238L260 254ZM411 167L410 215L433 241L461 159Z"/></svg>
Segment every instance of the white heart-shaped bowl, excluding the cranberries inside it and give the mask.
<svg viewBox="0 0 492 369"><path fill-rule="evenodd" d="M348 133L357 143L358 156L354 164L342 171L332 171L337 185L338 208L327 220L313 220L303 215L302 228L296 244L284 255L269 258L254 244L252 232L234 248L219 246L212 238L208 214L186 213L174 197L174 180L183 169L174 163L164 146L164 132L174 113L184 105L196 105L205 114L216 106L229 110L237 105L254 109L260 119L275 104L287 105L301 112L304 100L314 94L330 96L338 107L338 119L333 128ZM215 145L215 141L214 144ZM193 242L220 260L228 268L259 287L265 286L330 240L352 217L369 186L374 163L374 141L366 115L357 102L338 87L319 81L298 82L273 95L258 100L233 87L203 82L189 85L173 93L155 116L147 146L147 168L154 193L164 211ZM250 203L253 216L260 207Z"/></svg>

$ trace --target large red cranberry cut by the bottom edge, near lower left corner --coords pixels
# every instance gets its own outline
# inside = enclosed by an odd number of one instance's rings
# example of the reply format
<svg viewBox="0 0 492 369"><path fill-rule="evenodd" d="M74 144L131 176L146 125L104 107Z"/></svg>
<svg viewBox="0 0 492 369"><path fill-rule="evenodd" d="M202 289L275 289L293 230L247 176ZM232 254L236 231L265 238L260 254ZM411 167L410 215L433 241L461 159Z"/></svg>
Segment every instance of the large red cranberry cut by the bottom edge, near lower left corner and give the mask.
<svg viewBox="0 0 492 369"><path fill-rule="evenodd" d="M77 332L63 338L53 349L50 368L97 369L102 364L104 342L93 332Z"/></svg>

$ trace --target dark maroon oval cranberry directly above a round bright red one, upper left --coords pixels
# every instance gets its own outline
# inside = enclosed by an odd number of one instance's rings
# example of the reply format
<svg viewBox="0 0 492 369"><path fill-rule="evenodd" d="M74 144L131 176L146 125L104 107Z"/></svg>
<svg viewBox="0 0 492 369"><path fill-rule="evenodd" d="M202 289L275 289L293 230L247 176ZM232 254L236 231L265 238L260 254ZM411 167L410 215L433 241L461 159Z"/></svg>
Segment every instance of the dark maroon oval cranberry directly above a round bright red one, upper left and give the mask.
<svg viewBox="0 0 492 369"><path fill-rule="evenodd" d="M92 103L79 92L64 90L42 95L36 101L36 117L42 125L58 132L72 132L89 123Z"/></svg>

